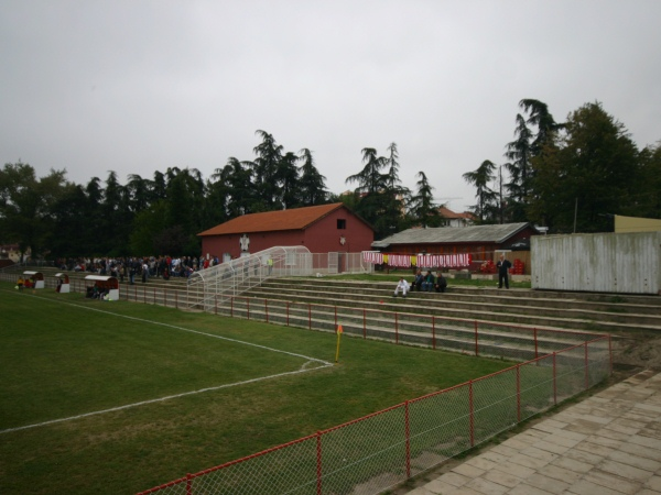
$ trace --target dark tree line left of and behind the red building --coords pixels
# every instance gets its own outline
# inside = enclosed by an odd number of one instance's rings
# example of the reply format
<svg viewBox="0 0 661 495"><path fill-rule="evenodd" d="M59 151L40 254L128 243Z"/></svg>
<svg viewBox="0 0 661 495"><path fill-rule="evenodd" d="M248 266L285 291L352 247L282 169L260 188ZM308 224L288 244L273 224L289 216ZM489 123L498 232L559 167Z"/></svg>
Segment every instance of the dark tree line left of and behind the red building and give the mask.
<svg viewBox="0 0 661 495"><path fill-rule="evenodd" d="M30 249L50 258L199 255L197 234L218 223L339 201L373 224L377 239L410 224L438 224L425 175L420 173L419 195L401 186L395 143L388 157L362 150L364 170L347 178L356 189L335 195L312 151L289 152L272 134L256 134L261 142L253 160L229 157L207 179L196 168L171 167L152 178L131 174L123 185L112 170L105 182L93 177L79 185L67 180L66 170L51 169L40 178L30 164L6 164L0 170L0 243L18 242L22 252Z"/></svg>

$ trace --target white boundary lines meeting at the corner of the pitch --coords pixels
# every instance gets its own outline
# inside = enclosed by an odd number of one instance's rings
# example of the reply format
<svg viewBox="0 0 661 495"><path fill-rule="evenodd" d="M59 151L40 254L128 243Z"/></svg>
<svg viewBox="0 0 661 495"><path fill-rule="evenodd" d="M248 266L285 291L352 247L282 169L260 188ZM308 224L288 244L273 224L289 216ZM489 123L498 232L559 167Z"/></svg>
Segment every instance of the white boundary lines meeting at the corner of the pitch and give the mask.
<svg viewBox="0 0 661 495"><path fill-rule="evenodd" d="M3 290L3 292L10 292L10 290ZM33 296L33 297L39 297L39 296ZM39 297L39 298L47 300L47 301L53 301L53 299L48 299L48 298L45 298L45 297ZM120 317L120 318L127 318L127 319L130 319L130 320L143 321L145 323L151 323L151 324L160 324L162 327L167 327L167 328L172 328L172 329L175 329L175 330L181 330L181 331L191 332L191 333L197 333L199 336L205 336L205 337L212 337L212 338L215 338L215 339L227 340L227 341L230 341L230 342L240 343L240 344L245 344L245 345L251 345L251 346L259 348L259 349L264 349L264 350L271 351L271 352L279 352L279 353L282 353L282 354L289 354L289 355L293 355L295 358L305 359L307 361L305 363L303 363L303 365L301 366L300 370L293 371L293 372L284 372L284 373L278 373L278 374L274 374L274 375L260 376L260 377L257 377L257 378L246 380L243 382L229 383L229 384L225 384L225 385L218 385L218 386L215 386L215 387L206 387L206 388L202 388L199 391L184 392L182 394L169 395L169 396L165 396L165 397L160 397L160 398L150 399L150 400L142 400L142 402L139 402L139 403L127 404L124 406L111 407L109 409L97 410L97 411L93 411L93 413L85 413L83 415L77 415L77 416L69 416L68 418L52 419L52 420L48 420L48 421L37 422L37 424L34 424L34 425L25 425L25 426L17 427L17 428L8 428L6 430L0 430L0 435L2 435L2 433L10 433L12 431L26 430L26 429L30 429L30 428L37 428L37 427L46 426L46 425L53 425L53 424L56 424L56 422L72 421L74 419L85 418L85 417L88 417L88 416L95 416L95 415L102 415L102 414L107 414L107 413L113 413L113 411L118 411L118 410L122 410L122 409L129 409L131 407L138 407L138 406L144 406L147 404L160 403L160 402L169 400L169 399L172 399L172 398L185 397L187 395L202 394L202 393L205 393L205 392L213 392L213 391L218 391L218 389L221 389L221 388L229 388L229 387L235 387L235 386L239 386L239 385L247 385L247 384L250 384L250 383L262 382L262 381L266 381L266 380L279 378L281 376L297 375L300 373L306 373L306 372L311 372L311 371L315 371L315 370L323 370L324 367L333 366L332 363L329 363L327 361L324 361L324 360L319 360L319 359L316 359L316 358L310 358L310 356L306 356L306 355L303 355L303 354L297 354L297 353L294 353L294 352L282 351L280 349L273 349L273 348L269 348L269 346L266 346L266 345L256 344L256 343L252 343L252 342L245 342L242 340L230 339L228 337L214 336L213 333L206 333L206 332L201 332L201 331L197 331L197 330L191 330L188 328L176 327L174 324L169 324L169 323L162 323L160 321L151 321L151 320L145 320L143 318L136 318L136 317L130 317L130 316L126 316L126 315L118 315L116 312L105 311L102 309L88 308L86 306L75 305L73 302L64 302L64 301L59 301L59 302L64 304L64 305L67 305L67 306L74 306L75 308L79 308L79 309L88 309L90 311L98 311L98 312L102 312L102 314L106 314L106 315L112 315L112 316ZM307 365L311 362L319 363L321 366L308 369Z"/></svg>

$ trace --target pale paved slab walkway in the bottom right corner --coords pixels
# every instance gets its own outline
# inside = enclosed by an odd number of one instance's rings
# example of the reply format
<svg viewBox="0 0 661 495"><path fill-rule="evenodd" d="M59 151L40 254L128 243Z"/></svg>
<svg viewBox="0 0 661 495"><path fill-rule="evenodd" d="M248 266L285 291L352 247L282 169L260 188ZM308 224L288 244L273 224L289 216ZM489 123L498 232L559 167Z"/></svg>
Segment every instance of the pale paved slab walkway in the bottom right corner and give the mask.
<svg viewBox="0 0 661 495"><path fill-rule="evenodd" d="M661 494L661 374L618 383L409 495Z"/></svg>

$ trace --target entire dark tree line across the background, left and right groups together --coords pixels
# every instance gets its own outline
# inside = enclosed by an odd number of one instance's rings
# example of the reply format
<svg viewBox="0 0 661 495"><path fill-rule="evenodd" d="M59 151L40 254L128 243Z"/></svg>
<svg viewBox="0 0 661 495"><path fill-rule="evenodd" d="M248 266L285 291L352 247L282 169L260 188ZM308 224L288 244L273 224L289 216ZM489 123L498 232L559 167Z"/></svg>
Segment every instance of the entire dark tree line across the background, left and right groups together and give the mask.
<svg viewBox="0 0 661 495"><path fill-rule="evenodd" d="M464 178L476 188L478 223L530 221L554 232L613 230L611 216L661 218L661 150L638 150L600 103L556 122L548 106L523 99L514 140L500 165L486 160ZM424 172L403 187L395 143L384 156L361 151L362 169L347 177L348 194L327 190L313 153L285 151L272 134L253 158L229 157L209 178L196 168L138 174L120 184L109 172L74 184L66 170L36 177L24 163L0 169L0 243L19 243L47 257L131 254L199 255L197 233L236 217L343 201L369 222L377 239L410 227L440 227L441 205Z"/></svg>

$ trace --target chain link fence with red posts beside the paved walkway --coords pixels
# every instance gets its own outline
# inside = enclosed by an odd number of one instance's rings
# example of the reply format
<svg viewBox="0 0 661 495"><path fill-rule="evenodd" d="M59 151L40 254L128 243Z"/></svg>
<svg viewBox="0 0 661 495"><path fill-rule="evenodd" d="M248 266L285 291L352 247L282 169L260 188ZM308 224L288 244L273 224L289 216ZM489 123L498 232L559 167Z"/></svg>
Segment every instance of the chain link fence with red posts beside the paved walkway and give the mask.
<svg viewBox="0 0 661 495"><path fill-rule="evenodd" d="M598 337L140 495L378 494L599 383Z"/></svg>

